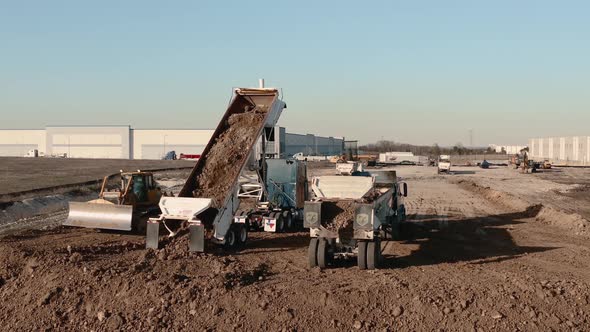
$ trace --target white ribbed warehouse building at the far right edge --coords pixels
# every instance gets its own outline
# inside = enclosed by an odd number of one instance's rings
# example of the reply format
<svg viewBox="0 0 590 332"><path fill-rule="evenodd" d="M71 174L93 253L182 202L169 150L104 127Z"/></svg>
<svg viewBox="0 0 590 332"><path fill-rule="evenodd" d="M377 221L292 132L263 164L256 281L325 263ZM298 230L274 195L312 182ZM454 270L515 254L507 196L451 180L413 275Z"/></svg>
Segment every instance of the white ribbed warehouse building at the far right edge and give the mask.
<svg viewBox="0 0 590 332"><path fill-rule="evenodd" d="M590 165L590 136L531 138L533 159L549 159L557 165Z"/></svg>

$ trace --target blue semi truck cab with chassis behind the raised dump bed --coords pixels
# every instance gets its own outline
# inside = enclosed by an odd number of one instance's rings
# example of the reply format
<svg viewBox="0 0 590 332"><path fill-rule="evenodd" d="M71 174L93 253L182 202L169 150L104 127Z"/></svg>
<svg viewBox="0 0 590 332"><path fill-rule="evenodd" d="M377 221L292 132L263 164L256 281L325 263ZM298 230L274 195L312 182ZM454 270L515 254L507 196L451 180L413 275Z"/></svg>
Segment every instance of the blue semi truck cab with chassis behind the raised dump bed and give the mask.
<svg viewBox="0 0 590 332"><path fill-rule="evenodd" d="M289 159L263 162L266 172L258 173L258 182L239 186L240 212L234 216L234 223L273 233L301 227L303 206L308 199L307 165Z"/></svg>

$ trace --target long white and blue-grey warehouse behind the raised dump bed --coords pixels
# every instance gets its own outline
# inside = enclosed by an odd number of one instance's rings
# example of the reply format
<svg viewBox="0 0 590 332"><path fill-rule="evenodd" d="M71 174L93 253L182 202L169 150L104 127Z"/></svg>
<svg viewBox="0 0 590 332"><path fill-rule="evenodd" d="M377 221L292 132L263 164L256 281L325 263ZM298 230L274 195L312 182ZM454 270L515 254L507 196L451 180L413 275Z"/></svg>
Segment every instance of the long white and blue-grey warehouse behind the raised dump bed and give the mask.
<svg viewBox="0 0 590 332"><path fill-rule="evenodd" d="M133 129L131 126L2 129L0 156L22 157L31 150L38 150L41 155L69 158L161 159L168 151L175 151L177 154L200 154L213 131ZM343 138L290 134L286 133L285 128L278 126L275 127L274 133L268 133L267 137L267 150L281 157L298 152L308 155L339 155L342 154L344 145ZM275 144L275 140L278 144Z"/></svg>

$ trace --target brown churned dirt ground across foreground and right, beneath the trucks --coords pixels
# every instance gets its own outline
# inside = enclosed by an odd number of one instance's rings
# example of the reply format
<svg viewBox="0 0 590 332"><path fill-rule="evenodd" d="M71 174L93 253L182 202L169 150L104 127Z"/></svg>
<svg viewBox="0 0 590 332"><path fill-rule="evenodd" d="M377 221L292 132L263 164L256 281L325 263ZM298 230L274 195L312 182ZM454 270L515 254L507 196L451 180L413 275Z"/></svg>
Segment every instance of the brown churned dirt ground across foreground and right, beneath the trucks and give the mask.
<svg viewBox="0 0 590 332"><path fill-rule="evenodd" d="M588 173L397 171L413 236L382 243L381 270L310 270L305 232L189 254L186 238L152 251L141 236L26 231L0 240L3 329L588 330L588 200L575 193Z"/></svg>

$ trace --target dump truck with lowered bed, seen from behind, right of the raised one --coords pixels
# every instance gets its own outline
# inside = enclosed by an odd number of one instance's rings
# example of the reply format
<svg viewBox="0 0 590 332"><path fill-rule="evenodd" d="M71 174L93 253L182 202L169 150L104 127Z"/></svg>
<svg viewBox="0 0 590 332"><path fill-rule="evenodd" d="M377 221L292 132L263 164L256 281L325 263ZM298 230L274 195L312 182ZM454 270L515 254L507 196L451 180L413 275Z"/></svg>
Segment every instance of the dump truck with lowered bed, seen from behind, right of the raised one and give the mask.
<svg viewBox="0 0 590 332"><path fill-rule="evenodd" d="M360 269L379 268L381 240L405 235L408 186L395 171L314 177L312 190L315 199L304 208L310 267L326 268L336 257L353 256Z"/></svg>

